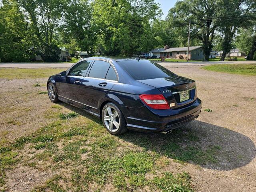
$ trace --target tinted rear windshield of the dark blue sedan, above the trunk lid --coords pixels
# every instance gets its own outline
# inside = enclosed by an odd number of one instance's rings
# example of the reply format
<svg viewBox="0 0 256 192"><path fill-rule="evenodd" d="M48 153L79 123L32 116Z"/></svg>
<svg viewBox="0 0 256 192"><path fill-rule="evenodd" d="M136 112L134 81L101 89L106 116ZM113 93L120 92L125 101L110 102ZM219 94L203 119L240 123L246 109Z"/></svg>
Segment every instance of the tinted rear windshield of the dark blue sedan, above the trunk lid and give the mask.
<svg viewBox="0 0 256 192"><path fill-rule="evenodd" d="M149 60L125 60L118 61L118 64L135 80L156 79L175 75L166 68Z"/></svg>

